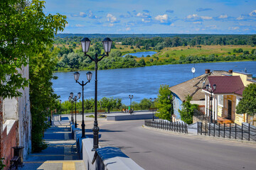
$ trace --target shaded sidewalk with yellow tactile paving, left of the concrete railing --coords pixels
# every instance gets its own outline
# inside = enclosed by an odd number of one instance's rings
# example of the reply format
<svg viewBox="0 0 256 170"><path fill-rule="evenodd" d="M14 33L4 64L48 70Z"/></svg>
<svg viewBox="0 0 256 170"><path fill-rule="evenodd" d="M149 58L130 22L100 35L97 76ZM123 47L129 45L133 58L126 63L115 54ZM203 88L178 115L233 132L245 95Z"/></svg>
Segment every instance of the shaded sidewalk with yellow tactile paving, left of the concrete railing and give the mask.
<svg viewBox="0 0 256 170"><path fill-rule="evenodd" d="M21 170L31 169L85 169L82 160L78 159L75 140L70 132L68 119L48 128L45 132L44 140L48 144L47 149L40 153L29 154L28 159L23 161L24 166L19 167Z"/></svg>

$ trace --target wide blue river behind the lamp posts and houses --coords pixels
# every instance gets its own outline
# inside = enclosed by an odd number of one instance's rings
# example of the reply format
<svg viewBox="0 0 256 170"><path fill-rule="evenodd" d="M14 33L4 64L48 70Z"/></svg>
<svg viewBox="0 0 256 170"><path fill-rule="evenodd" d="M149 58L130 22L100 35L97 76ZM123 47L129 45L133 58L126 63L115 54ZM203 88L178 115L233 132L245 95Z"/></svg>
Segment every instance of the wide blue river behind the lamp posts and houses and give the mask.
<svg viewBox="0 0 256 170"><path fill-rule="evenodd" d="M195 67L195 77L204 74L205 69L244 72L256 77L256 62L214 62L198 64L170 64L151 67L129 69L98 70L98 100L102 97L122 98L122 103L129 105L129 94L132 101L141 101L143 98L157 97L161 84L174 86L188 79L193 79L191 68ZM86 72L80 72L79 81L86 81ZM94 98L95 72L92 72L92 81L85 86L85 98ZM62 101L67 101L70 92L82 92L82 86L75 83L74 72L56 72L58 77L53 80L53 89Z"/></svg>

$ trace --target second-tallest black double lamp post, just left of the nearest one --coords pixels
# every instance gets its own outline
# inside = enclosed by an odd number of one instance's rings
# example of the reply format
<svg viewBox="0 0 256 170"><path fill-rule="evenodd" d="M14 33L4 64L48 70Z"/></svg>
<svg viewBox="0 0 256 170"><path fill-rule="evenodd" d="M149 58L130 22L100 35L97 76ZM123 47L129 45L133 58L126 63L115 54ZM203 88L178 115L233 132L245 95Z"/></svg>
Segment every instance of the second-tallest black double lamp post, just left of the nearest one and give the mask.
<svg viewBox="0 0 256 170"><path fill-rule="evenodd" d="M78 81L79 80L79 72L75 72L74 73L74 77L75 77L75 82L80 84L80 86L82 86L82 137L85 137L85 120L84 120L84 113L85 113L85 110L84 110L84 106L83 106L83 101L84 101L84 93L83 93L83 90L84 90L84 86L90 82L90 80L92 79L92 73L91 72L87 72L86 73L86 77L87 77L87 82L84 83L84 81L82 81L82 84ZM81 95L81 94L80 94ZM79 94L78 94L79 96Z"/></svg>

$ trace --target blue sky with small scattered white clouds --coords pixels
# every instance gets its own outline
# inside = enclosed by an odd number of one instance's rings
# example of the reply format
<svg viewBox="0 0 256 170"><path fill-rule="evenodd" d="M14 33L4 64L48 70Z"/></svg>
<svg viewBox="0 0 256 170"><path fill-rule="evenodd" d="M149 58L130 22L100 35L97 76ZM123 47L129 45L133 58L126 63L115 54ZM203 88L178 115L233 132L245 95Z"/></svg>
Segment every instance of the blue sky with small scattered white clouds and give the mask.
<svg viewBox="0 0 256 170"><path fill-rule="evenodd" d="M255 34L256 0L45 0L63 33Z"/></svg>

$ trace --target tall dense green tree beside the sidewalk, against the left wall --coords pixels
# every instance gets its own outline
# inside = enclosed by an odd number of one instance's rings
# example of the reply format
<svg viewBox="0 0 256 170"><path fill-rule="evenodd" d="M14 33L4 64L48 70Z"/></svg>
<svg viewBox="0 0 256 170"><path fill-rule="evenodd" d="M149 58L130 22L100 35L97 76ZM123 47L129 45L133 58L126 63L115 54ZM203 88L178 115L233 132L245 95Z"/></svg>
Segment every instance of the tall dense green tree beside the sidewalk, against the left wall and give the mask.
<svg viewBox="0 0 256 170"><path fill-rule="evenodd" d="M53 76L53 69L58 59L57 53L52 53L49 50L30 57L29 62L29 77L31 80L29 94L31 101L32 115L32 152L40 152L46 149L44 144L43 132L48 128L47 117L50 116L50 111L57 108L60 109L58 96L53 94L52 79L57 79Z"/></svg>

